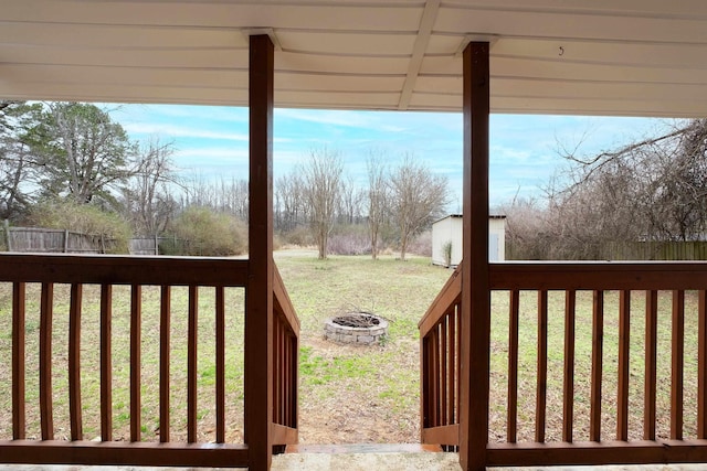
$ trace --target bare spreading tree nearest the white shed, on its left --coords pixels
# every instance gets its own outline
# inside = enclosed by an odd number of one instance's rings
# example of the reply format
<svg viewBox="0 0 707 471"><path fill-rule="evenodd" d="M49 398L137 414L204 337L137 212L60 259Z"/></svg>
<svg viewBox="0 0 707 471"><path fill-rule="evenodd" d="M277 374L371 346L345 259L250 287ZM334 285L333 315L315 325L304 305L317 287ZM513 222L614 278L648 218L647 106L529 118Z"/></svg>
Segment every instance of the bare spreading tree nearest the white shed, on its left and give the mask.
<svg viewBox="0 0 707 471"><path fill-rule="evenodd" d="M390 175L390 197L400 231L400 258L404 260L410 238L440 216L447 204L447 180L407 154Z"/></svg>

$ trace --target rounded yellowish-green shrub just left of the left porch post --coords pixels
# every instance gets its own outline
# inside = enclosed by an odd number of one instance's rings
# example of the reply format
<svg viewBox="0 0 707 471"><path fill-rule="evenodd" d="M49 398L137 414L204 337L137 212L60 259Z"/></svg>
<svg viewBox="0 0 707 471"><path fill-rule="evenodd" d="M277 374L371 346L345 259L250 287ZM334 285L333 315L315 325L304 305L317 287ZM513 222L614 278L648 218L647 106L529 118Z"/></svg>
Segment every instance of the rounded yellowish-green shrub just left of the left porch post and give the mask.
<svg viewBox="0 0 707 471"><path fill-rule="evenodd" d="M247 248L247 226L241 220L208 207L188 207L172 222L183 255L229 256Z"/></svg>

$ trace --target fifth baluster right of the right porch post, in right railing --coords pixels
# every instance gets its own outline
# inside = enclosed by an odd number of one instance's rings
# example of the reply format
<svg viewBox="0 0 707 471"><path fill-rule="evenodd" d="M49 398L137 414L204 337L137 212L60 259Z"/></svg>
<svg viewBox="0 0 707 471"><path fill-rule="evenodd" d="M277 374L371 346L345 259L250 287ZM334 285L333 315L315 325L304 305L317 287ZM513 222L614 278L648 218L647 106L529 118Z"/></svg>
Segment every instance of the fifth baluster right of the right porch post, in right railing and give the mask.
<svg viewBox="0 0 707 471"><path fill-rule="evenodd" d="M619 382L616 440L629 440L629 351L631 345L631 291L619 293Z"/></svg>

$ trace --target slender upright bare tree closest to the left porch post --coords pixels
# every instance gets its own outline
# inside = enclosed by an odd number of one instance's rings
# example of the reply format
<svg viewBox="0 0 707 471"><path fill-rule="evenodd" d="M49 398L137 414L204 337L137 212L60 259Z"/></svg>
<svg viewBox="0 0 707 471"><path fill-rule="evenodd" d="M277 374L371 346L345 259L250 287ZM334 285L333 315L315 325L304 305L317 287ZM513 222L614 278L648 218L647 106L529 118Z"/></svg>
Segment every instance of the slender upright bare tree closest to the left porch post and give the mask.
<svg viewBox="0 0 707 471"><path fill-rule="evenodd" d="M326 148L312 150L302 168L309 224L320 259L327 257L327 243L341 193L342 172L344 163L339 153Z"/></svg>

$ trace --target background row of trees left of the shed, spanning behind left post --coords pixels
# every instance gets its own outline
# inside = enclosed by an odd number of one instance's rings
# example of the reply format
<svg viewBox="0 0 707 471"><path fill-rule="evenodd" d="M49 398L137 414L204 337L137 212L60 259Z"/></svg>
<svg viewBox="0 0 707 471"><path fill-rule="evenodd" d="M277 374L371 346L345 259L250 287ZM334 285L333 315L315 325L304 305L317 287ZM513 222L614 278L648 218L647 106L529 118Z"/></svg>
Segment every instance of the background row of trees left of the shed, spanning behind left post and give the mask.
<svg viewBox="0 0 707 471"><path fill-rule="evenodd" d="M0 100L0 218L105 236L117 251L130 236L156 235L194 240L199 255L246 250L247 182L184 178L173 152L158 138L129 139L91 104ZM393 167L371 153L367 169L356 182L339 152L312 150L274 182L278 239L315 245L320 257L394 248L404 258L442 215L446 179L412 156Z"/></svg>

